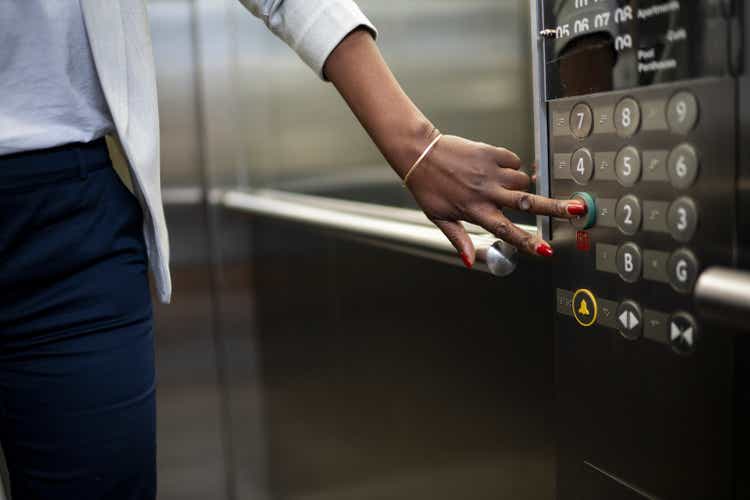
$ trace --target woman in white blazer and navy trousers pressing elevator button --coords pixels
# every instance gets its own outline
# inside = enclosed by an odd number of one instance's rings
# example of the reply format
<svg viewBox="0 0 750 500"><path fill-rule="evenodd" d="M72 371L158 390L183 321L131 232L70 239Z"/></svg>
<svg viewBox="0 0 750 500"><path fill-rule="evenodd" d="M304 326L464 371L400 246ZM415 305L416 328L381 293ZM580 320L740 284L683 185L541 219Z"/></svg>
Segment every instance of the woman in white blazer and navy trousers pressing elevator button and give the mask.
<svg viewBox="0 0 750 500"><path fill-rule="evenodd" d="M524 193L510 151L441 136L352 0L243 3L339 89L467 267L460 220L551 257L500 209L585 211ZM16 499L155 498L147 264L161 300L171 286L147 26L143 0L0 2L0 442Z"/></svg>

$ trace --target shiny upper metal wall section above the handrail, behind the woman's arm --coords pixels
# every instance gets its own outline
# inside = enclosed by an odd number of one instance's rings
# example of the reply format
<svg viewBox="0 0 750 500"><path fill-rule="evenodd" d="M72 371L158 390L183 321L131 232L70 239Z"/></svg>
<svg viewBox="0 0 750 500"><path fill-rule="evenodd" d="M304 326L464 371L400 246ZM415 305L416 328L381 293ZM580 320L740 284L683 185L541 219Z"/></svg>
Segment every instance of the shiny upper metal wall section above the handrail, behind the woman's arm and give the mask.
<svg viewBox="0 0 750 500"><path fill-rule="evenodd" d="M380 30L379 45L404 88L441 130L505 145L530 159L528 2L358 3ZM232 19L251 187L336 195L362 183L396 186L333 86L322 84L255 20L239 12ZM372 199L362 191L359 199L406 202L387 194Z"/></svg>

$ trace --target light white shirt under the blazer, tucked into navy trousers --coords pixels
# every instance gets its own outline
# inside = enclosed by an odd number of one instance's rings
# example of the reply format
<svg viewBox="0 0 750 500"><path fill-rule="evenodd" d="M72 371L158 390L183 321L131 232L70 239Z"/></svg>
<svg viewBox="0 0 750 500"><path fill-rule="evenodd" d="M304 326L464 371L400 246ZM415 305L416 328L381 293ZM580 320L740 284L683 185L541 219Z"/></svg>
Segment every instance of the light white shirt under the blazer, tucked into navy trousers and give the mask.
<svg viewBox="0 0 750 500"><path fill-rule="evenodd" d="M113 130L79 0L0 0L0 156Z"/></svg>

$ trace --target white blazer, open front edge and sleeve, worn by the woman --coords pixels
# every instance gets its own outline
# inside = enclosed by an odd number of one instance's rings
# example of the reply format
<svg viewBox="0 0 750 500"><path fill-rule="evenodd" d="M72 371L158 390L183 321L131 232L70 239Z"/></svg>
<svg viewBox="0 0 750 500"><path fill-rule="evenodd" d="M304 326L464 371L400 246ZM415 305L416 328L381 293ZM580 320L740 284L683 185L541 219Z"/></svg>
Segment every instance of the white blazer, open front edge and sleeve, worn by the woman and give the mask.
<svg viewBox="0 0 750 500"><path fill-rule="evenodd" d="M353 0L240 0L322 77L326 59L359 26L375 28ZM94 63L144 213L159 299L169 302L169 239L159 171L156 74L144 0L81 0Z"/></svg>

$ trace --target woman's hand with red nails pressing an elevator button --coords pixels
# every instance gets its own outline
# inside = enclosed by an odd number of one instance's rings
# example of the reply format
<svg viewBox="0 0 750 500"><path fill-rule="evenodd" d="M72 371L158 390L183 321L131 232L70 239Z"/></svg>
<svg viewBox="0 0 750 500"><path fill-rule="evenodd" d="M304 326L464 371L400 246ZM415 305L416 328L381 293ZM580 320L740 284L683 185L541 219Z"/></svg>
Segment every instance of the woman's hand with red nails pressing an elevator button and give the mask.
<svg viewBox="0 0 750 500"><path fill-rule="evenodd" d="M467 267L474 264L476 252L459 221L477 224L519 250L551 257L552 247L513 224L502 208L572 218L586 207L580 201L527 193L531 179L520 168L521 160L507 149L444 136L409 177L408 187Z"/></svg>

